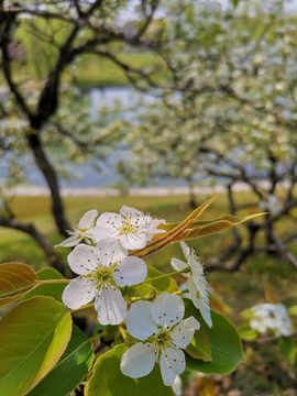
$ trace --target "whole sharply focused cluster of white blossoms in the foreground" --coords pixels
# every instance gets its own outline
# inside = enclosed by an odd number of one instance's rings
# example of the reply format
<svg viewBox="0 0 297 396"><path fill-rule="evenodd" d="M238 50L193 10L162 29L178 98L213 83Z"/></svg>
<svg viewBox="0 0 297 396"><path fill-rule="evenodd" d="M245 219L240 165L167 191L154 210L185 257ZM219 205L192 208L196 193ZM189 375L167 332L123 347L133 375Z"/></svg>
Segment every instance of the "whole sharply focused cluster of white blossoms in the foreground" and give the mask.
<svg viewBox="0 0 297 396"><path fill-rule="evenodd" d="M95 299L101 324L120 324L125 320L128 332L142 342L123 354L122 373L139 378L147 375L157 362L164 384L172 386L186 367L182 349L190 343L200 323L194 317L183 320L185 306L178 295L164 292L153 302L143 299L131 304L125 293L125 287L139 285L147 276L145 262L129 255L129 250L142 249L154 234L165 232L158 228L165 220L152 219L127 206L120 213L106 212L96 221L97 217L96 209L85 213L69 231L70 237L57 245L75 246L68 264L79 275L65 287L63 301L76 310ZM82 240L86 243L80 243ZM202 263L194 249L185 242L180 246L186 261L172 258L172 266L187 278L193 302L211 327L210 288Z"/></svg>

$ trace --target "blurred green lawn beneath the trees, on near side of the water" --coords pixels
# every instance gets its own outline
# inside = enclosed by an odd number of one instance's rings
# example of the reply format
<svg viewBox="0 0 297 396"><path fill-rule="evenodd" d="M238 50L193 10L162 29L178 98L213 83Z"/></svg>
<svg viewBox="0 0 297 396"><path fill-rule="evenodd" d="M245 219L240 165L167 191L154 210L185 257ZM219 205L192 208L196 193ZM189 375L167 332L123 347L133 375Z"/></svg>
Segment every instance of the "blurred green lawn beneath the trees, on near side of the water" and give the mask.
<svg viewBox="0 0 297 396"><path fill-rule="evenodd" d="M200 196L199 202L210 196ZM239 193L237 198L241 201L253 201L252 193ZM150 212L157 218L164 218L167 222L182 221L189 215L187 196L170 197L67 197L65 208L70 223L77 223L85 211L97 208L99 213L103 211L119 211L125 204ZM50 215L50 199L46 197L15 197L11 206L19 220L34 222L45 233L53 244L63 240L57 233ZM251 213L246 211L242 215ZM201 218L215 218L228 213L228 202L224 195L220 195ZM285 219L279 224L279 233L292 227ZM239 231L244 234L244 227ZM193 241L202 260L216 255L231 241L231 231L224 231L212 237ZM0 262L21 262L41 270L47 264L41 249L25 234L8 229L0 229ZM296 246L293 246L296 253ZM58 249L66 256L69 249ZM145 262L160 270L172 271L170 257L183 258L178 244L167 245L162 251L145 257ZM228 317L238 326L242 319L240 311L255 304L265 302L264 287L270 285L275 292L279 302L289 307L297 304L296 284L297 271L280 257L267 257L256 254L244 263L240 271L230 274L221 271L208 274L208 279L215 290L215 296L226 309ZM184 282L183 276L177 278ZM295 369L286 361L276 344L244 344L248 364L242 364L230 376L215 376L217 395L265 395L265 396L294 396L297 387L296 365ZM229 392L238 392L230 393Z"/></svg>

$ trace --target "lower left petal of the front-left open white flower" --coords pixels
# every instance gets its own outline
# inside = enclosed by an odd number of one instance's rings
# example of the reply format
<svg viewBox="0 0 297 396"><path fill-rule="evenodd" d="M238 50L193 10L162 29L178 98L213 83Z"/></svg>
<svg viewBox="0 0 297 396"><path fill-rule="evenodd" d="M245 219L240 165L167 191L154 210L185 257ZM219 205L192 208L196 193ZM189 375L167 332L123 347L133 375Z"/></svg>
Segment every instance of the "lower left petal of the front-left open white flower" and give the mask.
<svg viewBox="0 0 297 396"><path fill-rule="evenodd" d="M78 309L89 304L96 295L95 283L86 277L77 277L63 292L62 300L66 307Z"/></svg>

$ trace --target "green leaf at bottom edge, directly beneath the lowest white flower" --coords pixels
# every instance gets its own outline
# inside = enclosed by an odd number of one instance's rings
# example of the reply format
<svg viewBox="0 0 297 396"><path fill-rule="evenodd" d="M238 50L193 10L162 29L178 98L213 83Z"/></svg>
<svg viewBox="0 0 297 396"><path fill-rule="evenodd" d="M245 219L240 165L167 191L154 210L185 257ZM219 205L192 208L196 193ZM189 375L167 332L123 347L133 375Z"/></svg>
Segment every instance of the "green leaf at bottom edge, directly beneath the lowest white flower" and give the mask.
<svg viewBox="0 0 297 396"><path fill-rule="evenodd" d="M120 363L125 351L127 346L121 344L98 359L85 388L86 396L174 396L172 387L164 385L157 364L142 378L123 375Z"/></svg>

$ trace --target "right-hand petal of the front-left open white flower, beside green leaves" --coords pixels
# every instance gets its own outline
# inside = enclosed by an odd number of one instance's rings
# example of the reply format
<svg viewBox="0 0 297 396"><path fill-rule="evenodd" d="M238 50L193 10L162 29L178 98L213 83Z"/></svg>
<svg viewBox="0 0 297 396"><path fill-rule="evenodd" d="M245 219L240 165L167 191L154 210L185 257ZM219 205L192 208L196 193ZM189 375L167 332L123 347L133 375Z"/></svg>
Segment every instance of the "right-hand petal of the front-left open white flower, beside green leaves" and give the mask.
<svg viewBox="0 0 297 396"><path fill-rule="evenodd" d="M131 286L142 283L147 276L147 267L143 260L139 257L124 257L117 266L113 275L118 286Z"/></svg>

